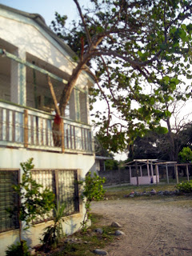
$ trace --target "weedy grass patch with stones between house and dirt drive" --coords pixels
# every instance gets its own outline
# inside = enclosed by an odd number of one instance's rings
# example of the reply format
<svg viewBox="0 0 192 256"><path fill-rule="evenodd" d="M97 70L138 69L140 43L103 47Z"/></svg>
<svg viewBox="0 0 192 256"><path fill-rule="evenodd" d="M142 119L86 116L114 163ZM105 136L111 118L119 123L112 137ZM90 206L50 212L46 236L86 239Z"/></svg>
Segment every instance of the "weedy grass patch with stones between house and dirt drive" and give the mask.
<svg viewBox="0 0 192 256"><path fill-rule="evenodd" d="M74 242L65 243L64 240L59 243L58 248L49 253L51 256L91 256L94 249L102 249L116 238L114 236L115 230L112 226L100 226L99 222L102 219L101 214L92 214L92 225L86 232L79 231L69 237L68 239ZM96 233L96 228L103 230L102 234ZM41 254L36 254L41 255ZM42 254L43 255L43 254Z"/></svg>

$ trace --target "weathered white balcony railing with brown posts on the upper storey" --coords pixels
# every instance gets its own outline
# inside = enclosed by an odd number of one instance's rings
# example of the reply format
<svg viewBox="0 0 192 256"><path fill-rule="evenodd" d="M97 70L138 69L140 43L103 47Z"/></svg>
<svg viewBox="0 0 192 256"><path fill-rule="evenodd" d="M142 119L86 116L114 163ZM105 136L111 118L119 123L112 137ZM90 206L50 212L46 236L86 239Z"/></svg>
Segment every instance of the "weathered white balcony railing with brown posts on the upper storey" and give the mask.
<svg viewBox="0 0 192 256"><path fill-rule="evenodd" d="M62 130L55 131L53 122L52 114L0 102L0 146L93 153L89 125L62 118Z"/></svg>

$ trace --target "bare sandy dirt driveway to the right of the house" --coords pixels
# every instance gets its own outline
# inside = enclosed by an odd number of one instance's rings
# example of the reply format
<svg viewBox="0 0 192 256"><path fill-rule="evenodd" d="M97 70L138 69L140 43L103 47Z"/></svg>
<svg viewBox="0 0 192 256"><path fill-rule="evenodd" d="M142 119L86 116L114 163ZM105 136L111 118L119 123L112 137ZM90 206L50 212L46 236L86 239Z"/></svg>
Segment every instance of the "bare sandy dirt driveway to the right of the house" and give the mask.
<svg viewBox="0 0 192 256"><path fill-rule="evenodd" d="M102 224L119 222L126 234L105 248L110 256L192 255L192 208L124 199L94 202L91 209L103 214Z"/></svg>

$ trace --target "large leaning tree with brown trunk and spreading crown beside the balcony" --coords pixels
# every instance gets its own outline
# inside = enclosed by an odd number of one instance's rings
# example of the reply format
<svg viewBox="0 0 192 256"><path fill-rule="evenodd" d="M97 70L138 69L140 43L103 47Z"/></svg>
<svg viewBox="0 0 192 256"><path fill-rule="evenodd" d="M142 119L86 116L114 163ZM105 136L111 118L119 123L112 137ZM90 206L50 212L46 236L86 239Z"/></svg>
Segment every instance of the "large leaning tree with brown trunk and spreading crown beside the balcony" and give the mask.
<svg viewBox="0 0 192 256"><path fill-rule="evenodd" d="M87 65L98 88L91 94L106 100L107 112L96 113L104 146L117 151L147 129L160 129L167 117L154 103L166 106L180 84L178 76L190 74L191 0L90 0L77 6L80 21L67 31L66 16L56 15L54 31L75 51L76 66L62 91L63 115L71 91ZM182 62L181 62L182 59ZM166 94L162 97L161 91ZM136 105L135 105L136 103ZM119 121L112 124L112 116Z"/></svg>

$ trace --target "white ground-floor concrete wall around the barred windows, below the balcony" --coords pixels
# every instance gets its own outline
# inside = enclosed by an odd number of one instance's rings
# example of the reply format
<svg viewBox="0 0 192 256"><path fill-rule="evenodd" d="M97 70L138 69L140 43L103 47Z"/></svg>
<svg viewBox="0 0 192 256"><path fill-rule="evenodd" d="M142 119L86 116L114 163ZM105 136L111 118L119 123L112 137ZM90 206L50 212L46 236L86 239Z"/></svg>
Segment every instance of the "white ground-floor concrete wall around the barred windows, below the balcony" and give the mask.
<svg viewBox="0 0 192 256"><path fill-rule="evenodd" d="M94 164L94 155L83 154L60 154L37 150L26 149L6 149L0 148L0 169L20 168L20 162L26 162L29 158L34 158L34 168L36 169L75 169L78 170L78 179L85 178L86 173ZM22 175L22 170L21 170ZM72 234L80 228L80 223L85 214L85 206L80 199L79 213L66 217L63 223L63 230L66 234ZM42 230L50 225L50 222L43 222L35 225L22 233L22 238L26 239L29 246L39 243ZM0 255L5 255L7 246L18 241L18 230L11 230L0 233Z"/></svg>

